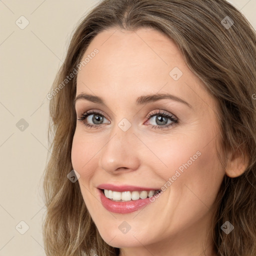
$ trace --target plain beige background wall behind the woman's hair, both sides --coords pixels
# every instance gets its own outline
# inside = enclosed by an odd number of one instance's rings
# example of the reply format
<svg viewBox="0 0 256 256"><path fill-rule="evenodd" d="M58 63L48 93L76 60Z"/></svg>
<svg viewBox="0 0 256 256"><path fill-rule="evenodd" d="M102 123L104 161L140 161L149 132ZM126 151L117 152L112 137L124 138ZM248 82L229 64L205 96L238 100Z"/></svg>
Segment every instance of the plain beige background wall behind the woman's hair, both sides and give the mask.
<svg viewBox="0 0 256 256"><path fill-rule="evenodd" d="M0 1L0 256L45 255L41 177L48 153L46 95L75 25L98 1ZM256 0L229 2L256 28ZM19 26L27 21L20 16L29 22L24 29Z"/></svg>

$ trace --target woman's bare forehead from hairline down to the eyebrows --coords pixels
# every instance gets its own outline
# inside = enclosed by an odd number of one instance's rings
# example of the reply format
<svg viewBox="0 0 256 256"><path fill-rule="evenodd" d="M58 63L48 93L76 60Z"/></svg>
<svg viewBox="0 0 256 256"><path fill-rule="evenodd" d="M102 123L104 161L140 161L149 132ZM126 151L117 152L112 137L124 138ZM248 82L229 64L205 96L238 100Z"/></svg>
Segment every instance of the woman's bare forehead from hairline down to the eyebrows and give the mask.
<svg viewBox="0 0 256 256"><path fill-rule="evenodd" d="M98 53L91 54L95 49ZM93 38L82 60L86 57L89 61L77 74L76 94L92 92L109 100L125 100L167 92L189 99L190 104L209 97L174 41L152 28L104 30Z"/></svg>

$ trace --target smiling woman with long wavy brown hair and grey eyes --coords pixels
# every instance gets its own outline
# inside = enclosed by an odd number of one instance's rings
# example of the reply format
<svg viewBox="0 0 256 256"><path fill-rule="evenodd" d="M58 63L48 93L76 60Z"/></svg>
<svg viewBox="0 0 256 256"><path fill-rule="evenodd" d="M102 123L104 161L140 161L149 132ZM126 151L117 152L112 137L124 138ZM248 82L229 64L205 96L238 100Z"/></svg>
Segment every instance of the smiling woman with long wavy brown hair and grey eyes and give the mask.
<svg viewBox="0 0 256 256"><path fill-rule="evenodd" d="M256 254L256 36L224 0L103 0L50 93L47 255Z"/></svg>

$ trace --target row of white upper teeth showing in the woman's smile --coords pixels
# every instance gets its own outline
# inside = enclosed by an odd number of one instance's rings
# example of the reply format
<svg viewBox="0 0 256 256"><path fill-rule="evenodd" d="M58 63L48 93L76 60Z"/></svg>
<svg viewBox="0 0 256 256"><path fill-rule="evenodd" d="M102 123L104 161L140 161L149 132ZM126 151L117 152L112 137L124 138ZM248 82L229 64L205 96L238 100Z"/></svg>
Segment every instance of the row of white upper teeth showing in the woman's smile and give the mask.
<svg viewBox="0 0 256 256"><path fill-rule="evenodd" d="M138 200L145 199L146 197L152 196L157 190L150 191L112 191L104 189L105 197L112 199L114 201L130 201L130 200Z"/></svg>

